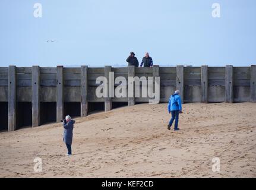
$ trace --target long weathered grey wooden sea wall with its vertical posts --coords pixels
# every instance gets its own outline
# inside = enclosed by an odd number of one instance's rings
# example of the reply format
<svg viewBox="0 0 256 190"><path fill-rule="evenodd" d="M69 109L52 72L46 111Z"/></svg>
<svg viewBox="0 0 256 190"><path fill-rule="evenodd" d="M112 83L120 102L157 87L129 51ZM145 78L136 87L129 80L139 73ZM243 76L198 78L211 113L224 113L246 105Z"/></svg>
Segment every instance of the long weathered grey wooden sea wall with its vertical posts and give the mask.
<svg viewBox="0 0 256 190"><path fill-rule="evenodd" d="M56 121L59 122L64 116L64 103L80 103L80 115L86 116L90 102L105 103L105 111L112 109L112 102L127 102L130 106L148 102L148 97L96 97L99 85L96 84L96 78L108 78L110 71L114 72L115 78L124 77L127 81L128 77L135 76L160 77L160 102L168 102L170 94L176 89L181 91L183 102L256 102L255 65L153 68L0 67L0 102L8 102L8 130L17 128L17 103L31 103L32 126L38 126L42 103L56 103Z"/></svg>

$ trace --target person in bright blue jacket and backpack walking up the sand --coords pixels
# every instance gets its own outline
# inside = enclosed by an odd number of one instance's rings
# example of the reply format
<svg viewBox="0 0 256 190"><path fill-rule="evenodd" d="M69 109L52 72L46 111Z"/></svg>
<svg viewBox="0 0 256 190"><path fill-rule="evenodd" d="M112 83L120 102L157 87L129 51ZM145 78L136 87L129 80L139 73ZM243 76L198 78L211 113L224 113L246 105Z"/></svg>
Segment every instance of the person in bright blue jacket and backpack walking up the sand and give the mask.
<svg viewBox="0 0 256 190"><path fill-rule="evenodd" d="M179 90L176 90L175 93L170 96L168 103L168 112L172 113L172 118L170 119L170 122L167 125L167 129L170 130L170 127L172 126L172 123L175 119L174 130L179 130L179 113L182 113L181 97L179 96Z"/></svg>

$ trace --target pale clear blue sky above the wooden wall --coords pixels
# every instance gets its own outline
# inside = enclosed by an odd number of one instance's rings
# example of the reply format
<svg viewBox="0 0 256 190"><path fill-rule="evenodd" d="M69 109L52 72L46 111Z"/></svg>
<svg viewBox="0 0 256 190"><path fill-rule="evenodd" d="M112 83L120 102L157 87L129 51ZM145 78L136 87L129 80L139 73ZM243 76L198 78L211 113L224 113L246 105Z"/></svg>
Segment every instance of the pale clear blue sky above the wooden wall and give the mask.
<svg viewBox="0 0 256 190"><path fill-rule="evenodd" d="M255 0L1 0L0 24L0 66L256 64Z"/></svg>

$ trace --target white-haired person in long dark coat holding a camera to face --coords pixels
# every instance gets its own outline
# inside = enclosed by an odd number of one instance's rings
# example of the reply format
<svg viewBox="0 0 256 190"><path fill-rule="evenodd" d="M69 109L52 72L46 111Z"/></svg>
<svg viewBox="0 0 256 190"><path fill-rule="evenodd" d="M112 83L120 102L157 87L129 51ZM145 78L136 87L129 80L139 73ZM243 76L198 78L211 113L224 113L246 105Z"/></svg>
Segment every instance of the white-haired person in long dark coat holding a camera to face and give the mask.
<svg viewBox="0 0 256 190"><path fill-rule="evenodd" d="M64 134L63 134L63 141L67 145L68 154L66 156L71 156L71 144L73 138L73 128L74 128L75 121L71 119L69 115L65 117L63 120L63 127L64 127Z"/></svg>

